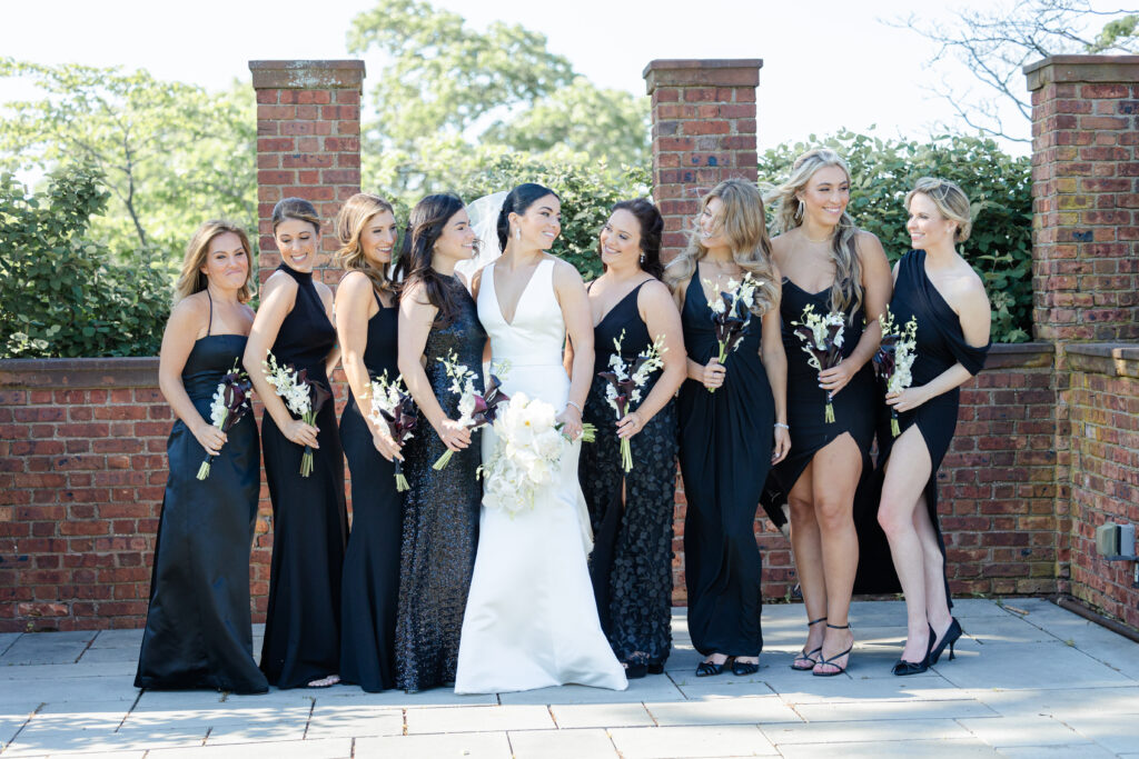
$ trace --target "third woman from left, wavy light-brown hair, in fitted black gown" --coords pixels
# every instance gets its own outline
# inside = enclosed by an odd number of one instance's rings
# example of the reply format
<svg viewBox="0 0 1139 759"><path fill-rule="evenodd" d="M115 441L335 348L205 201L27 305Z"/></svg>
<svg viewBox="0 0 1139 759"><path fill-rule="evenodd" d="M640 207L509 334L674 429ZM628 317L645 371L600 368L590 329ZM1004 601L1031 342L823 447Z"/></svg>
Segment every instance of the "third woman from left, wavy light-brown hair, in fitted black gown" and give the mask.
<svg viewBox="0 0 1139 759"><path fill-rule="evenodd" d="M387 277L395 247L392 205L375 195L349 198L336 217L347 271L336 288L336 333L344 353L347 405L341 440L352 473L352 533L344 554L341 677L376 693L395 687L395 610L400 593L403 498L392 459L402 459L386 424L371 421L371 379L396 368L396 288ZM362 412L361 412L362 410Z"/></svg>

